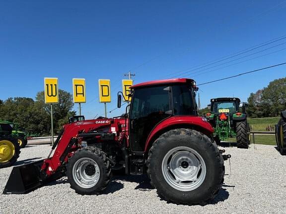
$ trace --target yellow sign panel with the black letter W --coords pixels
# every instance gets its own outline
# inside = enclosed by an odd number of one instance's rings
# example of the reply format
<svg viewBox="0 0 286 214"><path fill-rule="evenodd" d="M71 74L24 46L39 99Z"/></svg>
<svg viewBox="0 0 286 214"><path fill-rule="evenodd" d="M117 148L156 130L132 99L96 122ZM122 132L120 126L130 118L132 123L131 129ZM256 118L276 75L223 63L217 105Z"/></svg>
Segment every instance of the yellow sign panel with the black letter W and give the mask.
<svg viewBox="0 0 286 214"><path fill-rule="evenodd" d="M53 104L59 103L59 87L58 78L45 78L45 103Z"/></svg>

